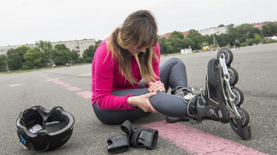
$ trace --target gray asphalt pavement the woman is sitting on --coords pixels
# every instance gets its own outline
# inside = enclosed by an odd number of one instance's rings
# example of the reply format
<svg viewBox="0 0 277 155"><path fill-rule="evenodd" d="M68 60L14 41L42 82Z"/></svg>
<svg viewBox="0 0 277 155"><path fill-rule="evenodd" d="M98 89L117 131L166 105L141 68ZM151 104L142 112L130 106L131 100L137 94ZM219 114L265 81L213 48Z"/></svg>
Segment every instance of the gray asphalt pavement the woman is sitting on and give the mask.
<svg viewBox="0 0 277 155"><path fill-rule="evenodd" d="M239 73L236 86L244 92L242 106L250 115L252 138L242 140L231 129L229 123L203 121L199 125L190 125L187 121L180 121L175 125L190 129L186 132L198 131L215 139L221 139L222 143L230 142L232 145L228 149L235 150L238 147L232 147L239 146L261 154L277 154L277 43L241 47L232 51L234 54L232 66ZM199 92L200 88L204 88L207 63L215 58L216 54L217 51L208 51L166 56L161 57L161 64L171 57L181 59L186 65L188 86L193 86L196 92ZM19 142L15 121L20 111L35 105L41 105L46 109L61 106L75 117L74 131L69 141L56 150L40 154L108 154L106 139L112 135L121 135L123 132L120 125L105 125L97 119L89 98L90 87L91 64L0 75L0 154L30 153L23 150L23 145ZM164 120L164 115L152 113L134 121L132 125L145 125ZM122 154L235 154L235 152L224 153L227 148L219 152L208 150L205 152L205 149L202 153L194 152L191 150L193 147L197 146L196 149L199 149L207 146L201 142L193 143L197 139L184 137L184 132L179 130L170 131L172 136L169 138L166 138L167 130L161 130L159 132L162 136L159 137L155 150L130 147ZM176 135L184 138L176 141L174 139ZM205 140L205 136L200 138ZM184 140L188 140L186 143L191 142L194 146L187 146ZM210 149L216 147L217 145L209 146ZM241 154L251 152L242 150Z"/></svg>

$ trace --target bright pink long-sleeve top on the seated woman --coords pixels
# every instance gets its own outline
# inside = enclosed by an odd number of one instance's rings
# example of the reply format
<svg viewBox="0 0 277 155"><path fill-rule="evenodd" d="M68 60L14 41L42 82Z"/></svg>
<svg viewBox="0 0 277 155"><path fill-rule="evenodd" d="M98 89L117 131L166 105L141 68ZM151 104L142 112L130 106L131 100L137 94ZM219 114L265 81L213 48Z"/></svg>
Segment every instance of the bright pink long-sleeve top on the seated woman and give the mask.
<svg viewBox="0 0 277 155"><path fill-rule="evenodd" d="M134 96L133 94L129 94L127 96L114 96L112 95L112 91L119 89L134 89L134 87L130 84L128 80L125 83L125 77L121 75L119 72L119 67L116 59L111 59L111 52L109 53L105 63L104 60L107 55L106 48L106 39L101 42L98 48L95 51L92 65L91 65L91 103L93 104L95 101L98 105L98 108L101 110L127 110L134 109L136 107L132 107L128 104L127 98L130 96ZM152 65L155 74L158 76L157 81L160 80L159 74L159 64L160 64L160 46L157 43L154 48L154 52L156 52L159 61L153 59ZM139 67L136 63L136 59L131 57L131 65L132 65L132 75L141 80L141 75L139 73ZM103 63L103 64L102 64ZM146 88L149 87L146 84ZM135 85L135 88L139 88L139 84Z"/></svg>

